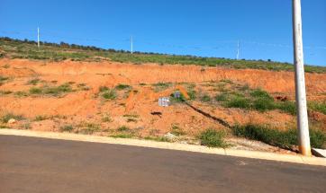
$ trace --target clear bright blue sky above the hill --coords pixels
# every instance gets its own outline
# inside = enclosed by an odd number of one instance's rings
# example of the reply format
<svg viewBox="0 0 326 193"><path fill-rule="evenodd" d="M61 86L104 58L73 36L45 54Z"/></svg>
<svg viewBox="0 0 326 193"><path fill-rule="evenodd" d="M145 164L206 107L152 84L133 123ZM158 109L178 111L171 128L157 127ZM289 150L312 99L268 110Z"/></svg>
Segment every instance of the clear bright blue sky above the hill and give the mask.
<svg viewBox="0 0 326 193"><path fill-rule="evenodd" d="M326 66L326 1L302 0L305 63ZM292 63L291 0L0 0L0 36Z"/></svg>

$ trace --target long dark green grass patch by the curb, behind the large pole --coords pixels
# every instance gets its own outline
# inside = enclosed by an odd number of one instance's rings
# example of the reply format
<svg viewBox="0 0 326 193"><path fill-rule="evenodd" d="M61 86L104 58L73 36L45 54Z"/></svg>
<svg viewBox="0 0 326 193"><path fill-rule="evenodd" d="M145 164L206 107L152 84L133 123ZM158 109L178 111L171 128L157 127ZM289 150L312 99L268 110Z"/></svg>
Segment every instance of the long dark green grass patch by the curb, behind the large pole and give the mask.
<svg viewBox="0 0 326 193"><path fill-rule="evenodd" d="M243 136L284 149L294 149L294 145L298 145L296 129L281 131L267 126L248 124L235 126L232 130L235 136ZM326 142L326 134L321 130L310 129L310 139L312 147L322 148Z"/></svg>

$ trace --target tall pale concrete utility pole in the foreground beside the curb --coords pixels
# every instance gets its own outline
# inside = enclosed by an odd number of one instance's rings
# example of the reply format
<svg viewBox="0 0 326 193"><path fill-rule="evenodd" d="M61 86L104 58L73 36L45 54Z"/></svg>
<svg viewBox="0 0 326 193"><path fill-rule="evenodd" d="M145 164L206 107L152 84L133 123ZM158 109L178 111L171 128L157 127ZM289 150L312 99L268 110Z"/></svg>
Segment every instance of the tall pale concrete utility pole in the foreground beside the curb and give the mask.
<svg viewBox="0 0 326 193"><path fill-rule="evenodd" d="M303 66L303 26L301 17L301 0L293 0L293 32L294 32L294 73L295 99L297 107L297 127L299 150L303 155L311 156L309 136L307 100L305 92Z"/></svg>

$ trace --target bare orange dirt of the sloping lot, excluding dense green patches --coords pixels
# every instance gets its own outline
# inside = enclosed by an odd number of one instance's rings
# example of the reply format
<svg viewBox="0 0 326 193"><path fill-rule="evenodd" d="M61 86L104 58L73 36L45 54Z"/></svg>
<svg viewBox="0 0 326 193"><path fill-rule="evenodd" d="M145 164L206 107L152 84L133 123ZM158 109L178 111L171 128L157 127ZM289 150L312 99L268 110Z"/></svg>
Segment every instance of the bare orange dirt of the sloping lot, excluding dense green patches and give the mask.
<svg viewBox="0 0 326 193"><path fill-rule="evenodd" d="M158 107L158 98L169 96L175 90L187 91L190 87L199 94L214 97L218 89L212 83L223 80L264 89L275 98L294 100L294 73L291 72L1 59L0 75L3 77L1 116L14 114L22 119L6 126L46 131L66 128L67 131L108 135L125 126L139 136L161 136L171 127L177 127L185 132L185 137L195 136L205 128L223 126L182 103ZM306 81L308 99L325 101L326 75L307 74ZM121 84L124 86L116 87ZM107 91L113 88L116 88L114 93ZM102 97L102 92L108 93ZM231 125L254 122L279 129L295 125L294 116L280 110L240 110L203 101L192 104ZM153 115L152 112L159 113ZM314 113L313 117L324 126L325 115Z"/></svg>

